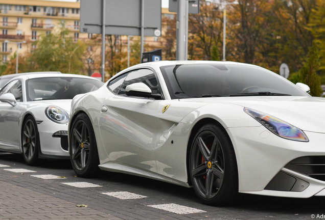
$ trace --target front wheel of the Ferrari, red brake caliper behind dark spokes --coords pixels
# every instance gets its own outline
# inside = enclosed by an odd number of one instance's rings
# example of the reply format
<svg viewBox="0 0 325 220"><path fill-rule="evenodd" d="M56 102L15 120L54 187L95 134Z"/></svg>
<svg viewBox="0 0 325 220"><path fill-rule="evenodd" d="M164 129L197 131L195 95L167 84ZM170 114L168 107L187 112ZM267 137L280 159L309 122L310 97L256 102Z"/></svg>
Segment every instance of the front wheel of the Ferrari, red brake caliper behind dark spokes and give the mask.
<svg viewBox="0 0 325 220"><path fill-rule="evenodd" d="M234 147L224 128L202 126L195 134L189 161L194 191L207 205L229 205L238 194Z"/></svg>

